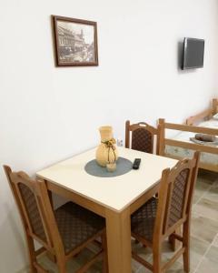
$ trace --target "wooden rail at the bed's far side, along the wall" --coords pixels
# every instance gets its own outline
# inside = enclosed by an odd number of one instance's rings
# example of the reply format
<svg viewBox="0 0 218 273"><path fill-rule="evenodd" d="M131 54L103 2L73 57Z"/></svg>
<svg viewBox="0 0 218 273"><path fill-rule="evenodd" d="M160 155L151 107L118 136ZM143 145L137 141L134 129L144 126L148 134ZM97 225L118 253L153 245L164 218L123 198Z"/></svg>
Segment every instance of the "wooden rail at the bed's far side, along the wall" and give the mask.
<svg viewBox="0 0 218 273"><path fill-rule="evenodd" d="M210 119L213 115L218 113L218 98L213 98L212 107L186 119L186 125L193 126L197 122L205 119Z"/></svg>

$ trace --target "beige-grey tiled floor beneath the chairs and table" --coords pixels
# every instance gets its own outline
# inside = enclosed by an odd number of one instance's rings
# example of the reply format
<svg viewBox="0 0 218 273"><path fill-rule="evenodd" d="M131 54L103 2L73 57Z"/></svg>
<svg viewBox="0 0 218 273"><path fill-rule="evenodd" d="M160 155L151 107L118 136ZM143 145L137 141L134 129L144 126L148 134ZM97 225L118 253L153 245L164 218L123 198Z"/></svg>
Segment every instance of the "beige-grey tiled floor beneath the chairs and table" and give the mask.
<svg viewBox="0 0 218 273"><path fill-rule="evenodd" d="M152 261L149 248L135 245L142 257ZM163 244L163 261L167 260L173 252L167 242ZM92 252L85 249L80 255L68 262L69 273L73 273L83 260L90 257ZM49 272L58 272L54 264L45 257L41 258L42 265ZM134 273L149 273L142 265L132 261ZM95 263L88 273L100 273L101 261ZM182 273L183 258L176 261L167 273ZM193 217L191 229L191 273L217 273L218 272L218 176L215 173L200 171L193 198Z"/></svg>

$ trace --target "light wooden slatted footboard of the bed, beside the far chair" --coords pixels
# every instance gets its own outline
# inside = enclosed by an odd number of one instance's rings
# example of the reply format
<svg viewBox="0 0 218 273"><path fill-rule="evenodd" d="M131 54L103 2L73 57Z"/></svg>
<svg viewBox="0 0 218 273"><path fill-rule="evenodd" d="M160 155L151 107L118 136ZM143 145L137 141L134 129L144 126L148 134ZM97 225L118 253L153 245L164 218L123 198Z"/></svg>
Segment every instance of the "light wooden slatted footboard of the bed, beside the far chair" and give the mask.
<svg viewBox="0 0 218 273"><path fill-rule="evenodd" d="M218 106L218 101L217 101L217 106ZM202 133L202 134L208 134L208 135L213 135L213 136L218 136L218 129L208 128L208 127L200 127L200 126L190 126L190 125L167 123L167 122L165 122L165 120L163 118L160 118L158 121L158 129L160 132L160 143L159 143L159 155L160 156L172 157L175 159L182 158L182 157L175 157L173 155L165 154L165 146L166 145L174 146L174 147L183 147L183 148L192 149L194 151L198 150L200 152L218 155L218 147L209 147L209 146L174 140L174 139L170 139L170 138L165 137L165 130L166 129L193 132L193 133ZM212 165L212 164L200 162L199 167L201 167L203 169L211 170L214 172L218 172L218 165Z"/></svg>

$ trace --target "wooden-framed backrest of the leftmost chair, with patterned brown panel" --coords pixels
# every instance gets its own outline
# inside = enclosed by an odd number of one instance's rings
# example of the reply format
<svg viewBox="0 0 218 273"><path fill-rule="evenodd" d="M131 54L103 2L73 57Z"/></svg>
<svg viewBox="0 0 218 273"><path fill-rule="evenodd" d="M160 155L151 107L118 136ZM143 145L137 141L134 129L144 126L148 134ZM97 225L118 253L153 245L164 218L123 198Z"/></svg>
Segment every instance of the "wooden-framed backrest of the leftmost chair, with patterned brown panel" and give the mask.
<svg viewBox="0 0 218 273"><path fill-rule="evenodd" d="M48 197L45 181L34 180L25 172L12 172L4 166L5 174L15 197L27 237L37 240L48 250L62 244ZM60 247L60 249L64 250Z"/></svg>

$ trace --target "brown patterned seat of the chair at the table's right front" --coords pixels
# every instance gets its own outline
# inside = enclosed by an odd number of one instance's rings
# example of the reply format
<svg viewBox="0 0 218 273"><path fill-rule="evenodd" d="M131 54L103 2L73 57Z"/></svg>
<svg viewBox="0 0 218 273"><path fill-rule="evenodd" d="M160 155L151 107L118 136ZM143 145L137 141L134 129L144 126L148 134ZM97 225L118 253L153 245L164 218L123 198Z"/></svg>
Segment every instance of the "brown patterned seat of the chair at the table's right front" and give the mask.
<svg viewBox="0 0 218 273"><path fill-rule="evenodd" d="M131 217L131 230L136 236L153 241L154 223L157 211L157 198L152 197Z"/></svg>

